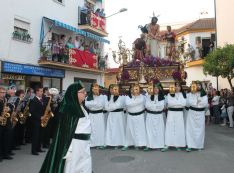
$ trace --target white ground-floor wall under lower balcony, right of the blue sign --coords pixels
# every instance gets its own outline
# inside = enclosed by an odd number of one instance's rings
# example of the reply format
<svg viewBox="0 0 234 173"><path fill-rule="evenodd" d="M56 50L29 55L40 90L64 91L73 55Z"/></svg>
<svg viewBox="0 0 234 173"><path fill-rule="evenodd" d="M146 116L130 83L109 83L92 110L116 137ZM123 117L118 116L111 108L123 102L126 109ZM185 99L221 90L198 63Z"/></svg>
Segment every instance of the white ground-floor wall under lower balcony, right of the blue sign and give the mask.
<svg viewBox="0 0 234 173"><path fill-rule="evenodd" d="M95 79L97 83L101 86L104 86L104 76L100 74L89 74L81 73L75 71L65 71L65 78L63 79L63 89L66 90L67 87L74 83L74 78L86 78L86 79Z"/></svg>

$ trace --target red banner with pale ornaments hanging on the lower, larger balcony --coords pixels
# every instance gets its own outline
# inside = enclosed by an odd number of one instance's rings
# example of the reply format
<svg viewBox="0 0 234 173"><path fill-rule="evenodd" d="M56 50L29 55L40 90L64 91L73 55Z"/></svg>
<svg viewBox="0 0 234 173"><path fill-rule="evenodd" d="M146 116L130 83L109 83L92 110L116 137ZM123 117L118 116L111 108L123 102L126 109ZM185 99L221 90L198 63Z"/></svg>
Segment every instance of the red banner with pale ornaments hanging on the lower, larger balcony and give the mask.
<svg viewBox="0 0 234 173"><path fill-rule="evenodd" d="M69 64L77 67L97 69L97 56L88 51L69 49Z"/></svg>

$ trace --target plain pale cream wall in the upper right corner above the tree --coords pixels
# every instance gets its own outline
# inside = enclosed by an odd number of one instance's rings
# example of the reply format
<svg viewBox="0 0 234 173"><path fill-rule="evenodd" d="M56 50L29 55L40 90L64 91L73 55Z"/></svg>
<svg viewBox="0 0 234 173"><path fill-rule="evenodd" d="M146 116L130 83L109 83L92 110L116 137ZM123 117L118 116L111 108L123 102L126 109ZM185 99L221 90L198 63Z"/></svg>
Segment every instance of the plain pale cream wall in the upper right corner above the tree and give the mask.
<svg viewBox="0 0 234 173"><path fill-rule="evenodd" d="M234 44L234 1L216 0L217 45Z"/></svg>

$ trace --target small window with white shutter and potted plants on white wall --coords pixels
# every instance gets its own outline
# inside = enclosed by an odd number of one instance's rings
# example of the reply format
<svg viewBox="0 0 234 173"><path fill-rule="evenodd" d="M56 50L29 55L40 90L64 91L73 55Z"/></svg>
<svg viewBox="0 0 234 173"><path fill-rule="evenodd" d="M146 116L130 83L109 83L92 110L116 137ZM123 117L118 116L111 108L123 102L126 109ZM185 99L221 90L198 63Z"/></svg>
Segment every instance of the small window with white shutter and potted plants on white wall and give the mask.
<svg viewBox="0 0 234 173"><path fill-rule="evenodd" d="M28 43L32 42L31 35L29 34L30 23L20 20L18 18L14 19L14 32L13 39L22 40Z"/></svg>

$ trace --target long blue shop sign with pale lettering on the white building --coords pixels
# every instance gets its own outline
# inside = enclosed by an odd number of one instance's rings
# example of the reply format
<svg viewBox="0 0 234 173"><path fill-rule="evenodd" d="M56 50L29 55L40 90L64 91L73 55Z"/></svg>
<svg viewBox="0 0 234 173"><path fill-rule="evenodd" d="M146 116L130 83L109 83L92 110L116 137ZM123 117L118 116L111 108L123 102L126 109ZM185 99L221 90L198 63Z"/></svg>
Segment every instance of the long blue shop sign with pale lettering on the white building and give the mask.
<svg viewBox="0 0 234 173"><path fill-rule="evenodd" d="M46 77L65 77L65 71L60 69L51 69L27 64L17 64L12 62L2 62L2 72L18 73Z"/></svg>

